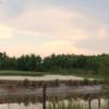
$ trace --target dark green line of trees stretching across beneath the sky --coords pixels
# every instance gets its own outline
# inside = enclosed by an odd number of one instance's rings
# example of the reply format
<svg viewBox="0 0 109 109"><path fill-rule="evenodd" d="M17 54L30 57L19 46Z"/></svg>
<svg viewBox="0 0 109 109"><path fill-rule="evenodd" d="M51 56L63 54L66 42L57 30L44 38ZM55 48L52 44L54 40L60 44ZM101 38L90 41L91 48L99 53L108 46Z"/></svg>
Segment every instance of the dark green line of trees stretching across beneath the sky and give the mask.
<svg viewBox="0 0 109 109"><path fill-rule="evenodd" d="M99 73L101 66L109 63L109 55L84 56L84 55L51 55L45 58L36 55L23 55L19 58L9 57L0 52L0 70L20 70L37 72L68 72L84 70ZM106 62L107 61L107 62Z"/></svg>

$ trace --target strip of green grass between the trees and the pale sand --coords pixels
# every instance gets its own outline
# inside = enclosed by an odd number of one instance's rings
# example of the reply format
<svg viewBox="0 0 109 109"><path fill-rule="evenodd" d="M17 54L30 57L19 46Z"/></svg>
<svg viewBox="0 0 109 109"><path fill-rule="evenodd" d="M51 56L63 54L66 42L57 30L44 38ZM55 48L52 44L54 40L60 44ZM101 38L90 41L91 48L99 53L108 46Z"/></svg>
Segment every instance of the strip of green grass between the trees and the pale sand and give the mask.
<svg viewBox="0 0 109 109"><path fill-rule="evenodd" d="M0 75L22 75L22 76L44 76L47 74L53 75L75 75L84 78L102 78L99 74L87 74L84 71L75 70L73 72L32 72L32 71L11 71L11 70L1 70Z"/></svg>

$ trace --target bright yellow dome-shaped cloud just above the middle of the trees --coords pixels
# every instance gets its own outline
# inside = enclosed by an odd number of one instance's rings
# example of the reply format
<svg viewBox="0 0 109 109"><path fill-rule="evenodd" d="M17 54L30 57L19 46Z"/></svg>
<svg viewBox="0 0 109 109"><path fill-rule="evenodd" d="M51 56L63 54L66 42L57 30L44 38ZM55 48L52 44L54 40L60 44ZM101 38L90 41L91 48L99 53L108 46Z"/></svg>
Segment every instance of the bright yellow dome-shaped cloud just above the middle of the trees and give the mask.
<svg viewBox="0 0 109 109"><path fill-rule="evenodd" d="M43 56L51 53L82 53L84 49L76 48L72 43L66 40L55 40L43 44L37 51Z"/></svg>

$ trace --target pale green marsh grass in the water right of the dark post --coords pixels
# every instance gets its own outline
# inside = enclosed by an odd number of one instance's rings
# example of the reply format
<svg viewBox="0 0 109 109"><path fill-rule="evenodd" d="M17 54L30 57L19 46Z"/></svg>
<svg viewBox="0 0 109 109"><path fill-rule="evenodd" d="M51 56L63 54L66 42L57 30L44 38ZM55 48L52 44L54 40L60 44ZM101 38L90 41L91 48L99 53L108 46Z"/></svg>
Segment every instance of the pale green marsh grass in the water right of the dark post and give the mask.
<svg viewBox="0 0 109 109"><path fill-rule="evenodd" d="M100 109L109 109L109 99L100 99ZM92 109L99 109L98 100L94 99L90 104ZM47 109L89 109L88 99L82 100L80 98L62 99L60 97L52 97L50 101L47 102Z"/></svg>

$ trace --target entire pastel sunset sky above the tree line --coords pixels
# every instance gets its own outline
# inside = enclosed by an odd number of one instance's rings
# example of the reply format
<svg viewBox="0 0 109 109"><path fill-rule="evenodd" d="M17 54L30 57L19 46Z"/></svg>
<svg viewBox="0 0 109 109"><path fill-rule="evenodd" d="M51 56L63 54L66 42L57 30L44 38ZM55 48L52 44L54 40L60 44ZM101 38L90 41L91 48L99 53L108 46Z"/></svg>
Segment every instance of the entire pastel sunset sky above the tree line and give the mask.
<svg viewBox="0 0 109 109"><path fill-rule="evenodd" d="M0 0L0 51L109 53L109 0Z"/></svg>

